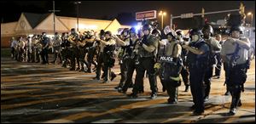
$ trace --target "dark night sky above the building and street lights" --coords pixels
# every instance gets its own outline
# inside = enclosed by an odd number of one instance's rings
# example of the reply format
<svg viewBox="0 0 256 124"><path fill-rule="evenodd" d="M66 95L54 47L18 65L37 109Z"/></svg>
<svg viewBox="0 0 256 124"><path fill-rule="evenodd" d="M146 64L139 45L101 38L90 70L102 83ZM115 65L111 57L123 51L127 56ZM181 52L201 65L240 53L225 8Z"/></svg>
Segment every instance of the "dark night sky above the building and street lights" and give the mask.
<svg viewBox="0 0 256 124"><path fill-rule="evenodd" d="M170 25L170 14L174 16L185 13L201 13L201 8L205 8L205 12L237 9L240 1L81 1L79 5L79 17L113 20L117 18L123 25L135 25L135 13L146 10L163 10L167 13L164 18L165 25ZM255 1L242 1L246 6L245 12L253 12L253 24L255 24ZM6 11L5 8L15 8L12 12ZM30 13L49 13L52 9L52 1L1 1L2 22L10 22L19 20L21 12ZM61 10L56 15L61 16L77 16L77 8L73 2L55 1L55 9ZM3 13L4 12L4 13ZM223 20L224 14L208 14L207 20L217 21ZM160 20L160 16L157 16ZM247 18L250 21L250 17ZM173 20L174 24L179 20ZM189 19L183 20L189 21Z"/></svg>

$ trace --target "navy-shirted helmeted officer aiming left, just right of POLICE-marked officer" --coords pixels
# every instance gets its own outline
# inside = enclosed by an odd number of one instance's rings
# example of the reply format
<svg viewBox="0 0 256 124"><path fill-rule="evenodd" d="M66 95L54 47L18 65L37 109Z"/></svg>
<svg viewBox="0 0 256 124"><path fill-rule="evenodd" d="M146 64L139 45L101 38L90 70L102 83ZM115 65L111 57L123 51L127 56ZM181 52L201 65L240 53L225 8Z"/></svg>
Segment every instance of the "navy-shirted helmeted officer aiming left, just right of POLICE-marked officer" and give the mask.
<svg viewBox="0 0 256 124"><path fill-rule="evenodd" d="M194 105L192 106L195 115L201 115L204 112L204 87L203 78L206 74L206 68L209 61L210 48L202 39L202 32L199 29L192 29L190 37L192 42L182 47L189 50L189 82L190 90L193 96Z"/></svg>

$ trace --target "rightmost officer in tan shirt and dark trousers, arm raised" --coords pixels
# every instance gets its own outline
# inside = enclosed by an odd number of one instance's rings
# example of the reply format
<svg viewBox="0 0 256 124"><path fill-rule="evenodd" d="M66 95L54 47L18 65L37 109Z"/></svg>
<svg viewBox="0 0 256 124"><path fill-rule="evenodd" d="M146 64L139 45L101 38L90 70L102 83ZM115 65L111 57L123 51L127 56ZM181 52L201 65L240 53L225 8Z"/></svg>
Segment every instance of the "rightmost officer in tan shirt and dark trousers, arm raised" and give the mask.
<svg viewBox="0 0 256 124"><path fill-rule="evenodd" d="M247 80L247 69L250 62L248 51L251 44L247 38L241 37L241 34L241 26L231 26L230 37L224 42L220 53L224 65L226 65L225 72L228 76L226 84L230 88L232 96L230 115L235 115L237 106L241 106L241 91L243 91L243 84Z"/></svg>

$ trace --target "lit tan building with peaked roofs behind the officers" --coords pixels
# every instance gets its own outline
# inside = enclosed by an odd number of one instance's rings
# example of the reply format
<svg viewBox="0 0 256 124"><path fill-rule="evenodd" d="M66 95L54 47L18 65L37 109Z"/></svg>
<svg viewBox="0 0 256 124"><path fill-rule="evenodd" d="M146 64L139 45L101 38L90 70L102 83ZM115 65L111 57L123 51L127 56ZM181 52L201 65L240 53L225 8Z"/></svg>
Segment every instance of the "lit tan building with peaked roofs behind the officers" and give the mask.
<svg viewBox="0 0 256 124"><path fill-rule="evenodd" d="M20 19L15 22L1 23L1 48L10 46L11 37L29 36L41 34L45 31L49 36L54 34L54 14L21 13ZM55 15L55 32L69 32L77 28L77 18ZM130 25L120 25L114 20L93 20L79 18L79 31L112 31L117 34L120 29L131 28Z"/></svg>

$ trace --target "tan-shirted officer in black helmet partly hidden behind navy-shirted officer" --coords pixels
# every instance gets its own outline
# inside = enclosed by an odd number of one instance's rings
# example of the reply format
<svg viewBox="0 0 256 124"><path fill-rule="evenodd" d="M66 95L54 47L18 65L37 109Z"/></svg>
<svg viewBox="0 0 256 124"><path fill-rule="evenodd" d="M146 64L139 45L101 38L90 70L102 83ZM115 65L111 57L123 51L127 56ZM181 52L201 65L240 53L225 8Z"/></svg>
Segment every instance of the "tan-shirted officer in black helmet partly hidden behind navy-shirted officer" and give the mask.
<svg viewBox="0 0 256 124"><path fill-rule="evenodd" d="M209 68L204 78L204 82L205 82L204 100L207 101L209 100L209 94L211 89L211 77L212 77L213 65L217 64L216 54L221 49L221 45L214 37L212 37L213 29L211 25L205 25L202 29L202 33L204 35L203 38L205 42L207 42L207 44L210 46L210 51L211 51Z"/></svg>

